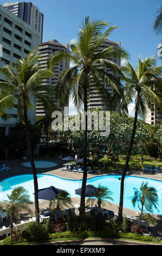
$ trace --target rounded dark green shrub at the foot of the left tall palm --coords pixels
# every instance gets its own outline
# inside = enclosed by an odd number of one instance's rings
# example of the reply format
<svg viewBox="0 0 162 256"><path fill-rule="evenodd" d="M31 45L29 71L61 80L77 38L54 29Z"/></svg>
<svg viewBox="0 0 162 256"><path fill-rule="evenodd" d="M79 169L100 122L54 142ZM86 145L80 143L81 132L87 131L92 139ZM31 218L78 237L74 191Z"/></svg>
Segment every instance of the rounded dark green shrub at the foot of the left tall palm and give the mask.
<svg viewBox="0 0 162 256"><path fill-rule="evenodd" d="M31 222L21 231L23 239L27 241L38 241L48 239L48 233L45 224ZM30 234L30 236L29 236Z"/></svg>

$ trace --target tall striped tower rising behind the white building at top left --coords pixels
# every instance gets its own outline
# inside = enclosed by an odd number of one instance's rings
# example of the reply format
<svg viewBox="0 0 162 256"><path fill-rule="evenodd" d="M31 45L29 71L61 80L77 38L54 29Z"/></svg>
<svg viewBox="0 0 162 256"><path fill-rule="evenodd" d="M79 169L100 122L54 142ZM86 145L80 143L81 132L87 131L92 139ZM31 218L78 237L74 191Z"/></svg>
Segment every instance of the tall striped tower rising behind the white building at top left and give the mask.
<svg viewBox="0 0 162 256"><path fill-rule="evenodd" d="M43 14L41 11L31 2L4 3L3 6L38 31L41 44L43 37Z"/></svg>

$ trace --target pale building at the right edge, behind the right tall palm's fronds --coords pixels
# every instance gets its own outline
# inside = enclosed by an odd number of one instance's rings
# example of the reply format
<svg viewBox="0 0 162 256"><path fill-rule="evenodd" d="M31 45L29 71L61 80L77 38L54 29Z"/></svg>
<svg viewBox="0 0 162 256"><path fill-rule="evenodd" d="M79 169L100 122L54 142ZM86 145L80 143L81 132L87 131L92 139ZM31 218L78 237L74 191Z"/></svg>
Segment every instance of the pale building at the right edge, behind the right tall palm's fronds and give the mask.
<svg viewBox="0 0 162 256"><path fill-rule="evenodd" d="M159 80L162 82L162 77L159 77ZM155 105L153 105L152 108L148 108L147 106L145 122L153 125L156 123L160 124L162 122L162 110Z"/></svg>

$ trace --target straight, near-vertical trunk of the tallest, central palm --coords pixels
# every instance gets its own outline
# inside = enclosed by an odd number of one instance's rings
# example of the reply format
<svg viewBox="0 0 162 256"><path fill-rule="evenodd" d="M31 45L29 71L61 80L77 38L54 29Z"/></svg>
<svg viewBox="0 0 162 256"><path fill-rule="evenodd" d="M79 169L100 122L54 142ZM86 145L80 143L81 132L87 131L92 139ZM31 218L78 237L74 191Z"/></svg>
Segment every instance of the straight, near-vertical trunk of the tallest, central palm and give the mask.
<svg viewBox="0 0 162 256"><path fill-rule="evenodd" d="M84 111L87 113L87 88L84 94ZM85 116L85 129L83 131L83 180L81 189L81 200L80 200L80 216L82 217L85 213L85 196L86 196L86 183L87 183L87 115Z"/></svg>

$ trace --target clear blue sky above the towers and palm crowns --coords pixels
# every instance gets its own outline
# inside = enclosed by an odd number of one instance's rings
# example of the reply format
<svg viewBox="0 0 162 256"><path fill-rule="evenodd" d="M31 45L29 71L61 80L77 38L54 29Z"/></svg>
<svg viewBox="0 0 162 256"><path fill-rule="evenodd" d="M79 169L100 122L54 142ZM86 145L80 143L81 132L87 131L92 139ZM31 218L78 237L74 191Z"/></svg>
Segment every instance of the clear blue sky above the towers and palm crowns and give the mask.
<svg viewBox="0 0 162 256"><path fill-rule="evenodd" d="M14 2L14 1L1 1ZM20 1L23 2L23 1ZM27 1L28 2L28 1ZM160 36L153 32L155 10L160 0L31 0L44 14L43 41L56 39L61 44L70 44L77 37L77 31L85 16L91 20L105 20L111 26L118 26L110 40L121 41L131 58L129 62L135 67L138 55L142 58L157 56ZM157 58L157 64L161 62ZM71 104L70 107L73 107Z"/></svg>

